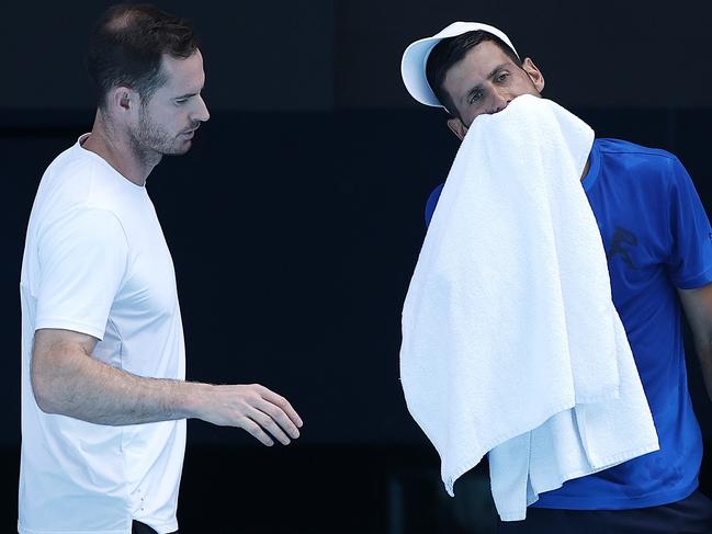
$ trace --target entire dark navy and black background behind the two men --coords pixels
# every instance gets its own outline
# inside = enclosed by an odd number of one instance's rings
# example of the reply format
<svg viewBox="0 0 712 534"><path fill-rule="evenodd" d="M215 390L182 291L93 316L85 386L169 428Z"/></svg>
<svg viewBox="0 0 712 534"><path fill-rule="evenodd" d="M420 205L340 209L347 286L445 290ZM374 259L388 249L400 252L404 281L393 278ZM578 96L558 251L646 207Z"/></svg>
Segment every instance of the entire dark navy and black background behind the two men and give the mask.
<svg viewBox="0 0 712 534"><path fill-rule="evenodd" d="M110 3L3 5L2 532L16 520L25 226L44 168L91 127L83 44ZM297 442L272 448L190 421L181 532L488 532L484 467L447 497L398 382L423 203L457 147L443 112L403 88L400 55L455 20L504 29L543 71L545 96L599 137L677 154L710 212L712 4L155 3L193 21L212 113L191 152L148 180L178 274L189 378L261 383L305 421ZM709 440L693 359L690 375Z"/></svg>

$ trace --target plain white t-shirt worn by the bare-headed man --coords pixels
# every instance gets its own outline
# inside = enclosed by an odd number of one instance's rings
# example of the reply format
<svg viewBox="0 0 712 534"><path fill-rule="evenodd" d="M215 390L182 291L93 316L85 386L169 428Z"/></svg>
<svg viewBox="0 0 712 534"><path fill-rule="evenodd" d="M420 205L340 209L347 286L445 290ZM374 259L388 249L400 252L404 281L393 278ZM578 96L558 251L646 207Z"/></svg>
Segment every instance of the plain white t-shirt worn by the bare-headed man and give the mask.
<svg viewBox="0 0 712 534"><path fill-rule="evenodd" d="M135 519L172 532L185 421L110 427L47 414L30 383L41 328L98 338L93 356L129 373L185 377L173 263L154 205L83 138L47 168L27 228L18 531L127 534Z"/></svg>

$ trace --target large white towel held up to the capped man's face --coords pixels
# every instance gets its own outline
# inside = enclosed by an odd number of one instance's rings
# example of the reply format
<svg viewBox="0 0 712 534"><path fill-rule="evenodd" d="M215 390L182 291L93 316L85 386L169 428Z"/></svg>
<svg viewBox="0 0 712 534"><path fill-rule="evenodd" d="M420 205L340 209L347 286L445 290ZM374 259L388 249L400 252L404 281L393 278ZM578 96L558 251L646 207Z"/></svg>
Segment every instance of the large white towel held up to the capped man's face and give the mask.
<svg viewBox="0 0 712 534"><path fill-rule="evenodd" d="M531 95L477 117L404 305L408 409L450 495L491 451L504 520L567 479L658 448L580 185L592 139Z"/></svg>

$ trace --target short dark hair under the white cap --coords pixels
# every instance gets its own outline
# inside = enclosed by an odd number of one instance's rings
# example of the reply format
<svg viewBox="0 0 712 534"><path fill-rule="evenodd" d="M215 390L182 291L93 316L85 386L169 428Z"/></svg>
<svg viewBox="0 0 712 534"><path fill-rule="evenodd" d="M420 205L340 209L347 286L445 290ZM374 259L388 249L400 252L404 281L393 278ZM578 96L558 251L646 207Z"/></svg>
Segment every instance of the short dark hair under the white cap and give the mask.
<svg viewBox="0 0 712 534"><path fill-rule="evenodd" d="M455 64L459 64L464 59L471 49L485 41L491 41L505 54L507 54L518 67L522 66L521 59L519 59L515 50L512 50L496 35L483 30L474 30L457 35L456 37L444 38L432 48L428 56L428 63L426 65L426 77L428 78L428 83L430 84L432 92L438 96L440 103L444 105L448 113L453 116L457 116L457 109L450 98L450 94L448 94L448 91L443 88L445 76L448 76L448 71Z"/></svg>

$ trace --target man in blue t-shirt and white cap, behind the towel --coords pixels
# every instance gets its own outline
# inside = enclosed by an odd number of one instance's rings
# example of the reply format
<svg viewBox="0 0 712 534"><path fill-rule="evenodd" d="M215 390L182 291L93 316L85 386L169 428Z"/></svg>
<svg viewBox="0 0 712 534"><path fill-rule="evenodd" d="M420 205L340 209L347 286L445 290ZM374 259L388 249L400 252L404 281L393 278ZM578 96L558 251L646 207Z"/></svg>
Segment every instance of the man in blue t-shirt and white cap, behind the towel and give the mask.
<svg viewBox="0 0 712 534"><path fill-rule="evenodd" d="M460 139L478 115L544 88L531 58L521 60L506 34L479 23L454 23L412 43L402 71L417 101L450 113L448 125ZM712 532L712 502L697 489L702 438L688 393L681 322L683 310L712 394L710 223L687 171L665 150L596 139L581 184L660 450L542 493L525 521L500 523L499 531ZM428 200L427 223L441 190Z"/></svg>

